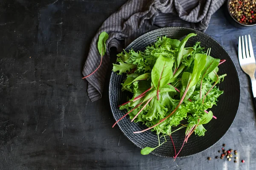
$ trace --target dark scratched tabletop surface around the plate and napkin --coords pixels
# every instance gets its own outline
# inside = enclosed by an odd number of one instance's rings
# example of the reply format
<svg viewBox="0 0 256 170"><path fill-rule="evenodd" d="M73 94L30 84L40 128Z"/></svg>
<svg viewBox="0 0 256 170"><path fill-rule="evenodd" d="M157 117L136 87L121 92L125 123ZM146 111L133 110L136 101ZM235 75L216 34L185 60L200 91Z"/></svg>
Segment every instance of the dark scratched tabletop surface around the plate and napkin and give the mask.
<svg viewBox="0 0 256 170"><path fill-rule="evenodd" d="M0 1L0 170L255 170L256 111L249 79L239 67L237 42L250 34L256 46L256 29L233 27L223 7L213 14L206 33L235 62L241 104L220 142L175 162L140 155L118 126L111 127L111 65L102 99L90 102L81 79L90 42L125 1ZM111 53L114 62L116 52ZM238 150L245 163L213 159L222 143Z"/></svg>

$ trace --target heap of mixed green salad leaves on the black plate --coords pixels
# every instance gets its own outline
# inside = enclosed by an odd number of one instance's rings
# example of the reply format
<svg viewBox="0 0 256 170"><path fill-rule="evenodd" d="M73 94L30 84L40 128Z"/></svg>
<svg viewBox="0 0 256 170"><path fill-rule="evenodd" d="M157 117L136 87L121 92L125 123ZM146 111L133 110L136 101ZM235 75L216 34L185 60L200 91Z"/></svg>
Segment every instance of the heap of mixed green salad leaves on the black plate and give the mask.
<svg viewBox="0 0 256 170"><path fill-rule="evenodd" d="M218 97L223 94L216 85L226 76L218 75L218 65L225 60L211 57L210 49L205 51L200 42L185 47L193 36L196 34L188 34L182 41L158 37L144 51L123 51L113 64L116 74L126 74L122 91L132 94L128 102L119 106L127 113L117 122L129 115L132 122L142 122L148 127L134 133L153 130L158 135L159 145L145 147L141 150L143 155L159 147L162 136L172 139L172 133L185 127L183 144L192 133L204 136L207 131L204 125L216 119L207 110L217 105ZM175 149L174 158L179 153Z"/></svg>

